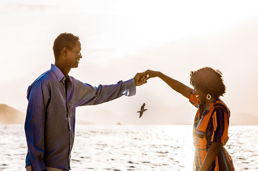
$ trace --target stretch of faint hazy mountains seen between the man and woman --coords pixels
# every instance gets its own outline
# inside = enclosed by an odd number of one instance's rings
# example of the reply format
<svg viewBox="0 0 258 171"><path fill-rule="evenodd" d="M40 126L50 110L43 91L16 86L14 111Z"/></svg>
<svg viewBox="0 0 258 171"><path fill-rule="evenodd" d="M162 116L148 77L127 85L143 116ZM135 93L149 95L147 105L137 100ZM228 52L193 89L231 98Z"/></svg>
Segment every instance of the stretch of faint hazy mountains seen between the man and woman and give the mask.
<svg viewBox="0 0 258 171"><path fill-rule="evenodd" d="M171 124L171 125L189 125L192 124L194 120L196 108L189 105L187 107L177 106L176 108L181 108L180 113L175 113L178 109L166 106L158 105L156 107L148 107L141 118L139 118L139 113L136 113L138 109L132 111L128 114L127 110L125 112L119 112L119 114L112 112L111 110L95 110L87 109L81 110L79 107L76 112L76 117L78 120L84 120L93 122L95 124L135 124L135 125L161 125L161 124ZM130 110L130 109L128 109Z"/></svg>

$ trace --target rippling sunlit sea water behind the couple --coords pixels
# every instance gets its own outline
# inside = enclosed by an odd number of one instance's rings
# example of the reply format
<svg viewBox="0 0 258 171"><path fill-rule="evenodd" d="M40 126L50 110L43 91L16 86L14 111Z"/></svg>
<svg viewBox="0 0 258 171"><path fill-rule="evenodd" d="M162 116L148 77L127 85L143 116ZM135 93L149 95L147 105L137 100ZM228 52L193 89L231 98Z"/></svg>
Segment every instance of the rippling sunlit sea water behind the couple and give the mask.
<svg viewBox="0 0 258 171"><path fill-rule="evenodd" d="M77 125L71 170L191 170L191 125ZM258 126L230 126L235 170L258 170ZM25 170L23 125L0 125L0 170Z"/></svg>

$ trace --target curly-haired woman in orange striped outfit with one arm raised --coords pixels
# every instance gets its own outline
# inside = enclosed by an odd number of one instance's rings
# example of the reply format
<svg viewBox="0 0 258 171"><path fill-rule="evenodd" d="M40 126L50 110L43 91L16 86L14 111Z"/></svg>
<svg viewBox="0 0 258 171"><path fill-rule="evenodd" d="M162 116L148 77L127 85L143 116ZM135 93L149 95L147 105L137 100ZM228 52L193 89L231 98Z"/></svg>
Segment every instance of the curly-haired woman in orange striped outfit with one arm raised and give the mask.
<svg viewBox="0 0 258 171"><path fill-rule="evenodd" d="M194 89L158 71L147 70L142 79L145 82L153 77L161 78L198 108L193 124L193 170L233 171L232 158L223 147L228 141L230 111L219 99L226 92L221 71L210 67L191 71Z"/></svg>

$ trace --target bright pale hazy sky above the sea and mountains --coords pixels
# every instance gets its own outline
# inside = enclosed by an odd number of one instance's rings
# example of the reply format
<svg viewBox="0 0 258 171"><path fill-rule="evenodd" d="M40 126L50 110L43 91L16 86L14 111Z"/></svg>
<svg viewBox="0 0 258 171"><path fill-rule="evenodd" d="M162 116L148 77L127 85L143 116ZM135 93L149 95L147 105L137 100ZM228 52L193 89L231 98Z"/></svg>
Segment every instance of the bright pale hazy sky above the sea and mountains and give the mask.
<svg viewBox="0 0 258 171"><path fill-rule="evenodd" d="M1 1L0 104L26 112L28 86L54 63L54 39L70 32L80 37L83 58L69 75L82 82L114 84L152 69L190 86L190 70L210 66L224 75L222 100L231 113L258 115L257 6L257 1ZM79 107L77 113L134 116L143 103L153 116L196 112L154 78L137 87L136 96Z"/></svg>

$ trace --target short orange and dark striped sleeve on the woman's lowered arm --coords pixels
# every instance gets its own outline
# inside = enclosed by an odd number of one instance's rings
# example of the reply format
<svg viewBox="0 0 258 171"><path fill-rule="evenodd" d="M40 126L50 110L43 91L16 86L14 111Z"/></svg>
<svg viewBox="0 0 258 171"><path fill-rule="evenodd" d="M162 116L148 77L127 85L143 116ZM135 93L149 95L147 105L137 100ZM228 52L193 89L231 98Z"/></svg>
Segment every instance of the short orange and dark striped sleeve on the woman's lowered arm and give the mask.
<svg viewBox="0 0 258 171"><path fill-rule="evenodd" d="M213 128L211 142L221 142L224 146L228 141L229 116L227 112L222 109L215 110L211 122Z"/></svg>

